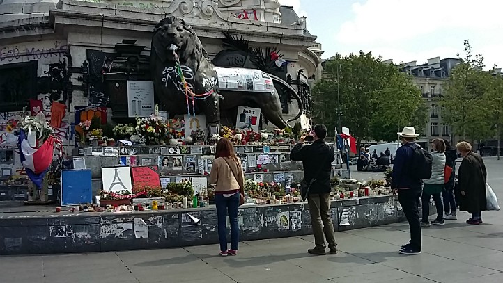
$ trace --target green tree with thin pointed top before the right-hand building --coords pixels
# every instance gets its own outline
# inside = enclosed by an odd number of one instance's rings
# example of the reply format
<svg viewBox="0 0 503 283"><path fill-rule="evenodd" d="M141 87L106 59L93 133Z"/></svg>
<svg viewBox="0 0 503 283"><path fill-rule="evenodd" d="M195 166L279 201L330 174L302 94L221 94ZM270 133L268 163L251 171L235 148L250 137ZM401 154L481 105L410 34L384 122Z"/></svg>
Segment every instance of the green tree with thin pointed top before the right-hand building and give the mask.
<svg viewBox="0 0 503 283"><path fill-rule="evenodd" d="M441 101L445 108L442 118L463 140L481 140L493 134L484 98L490 92L493 76L483 70L483 56L472 56L470 42L465 40L464 45L465 58L452 70Z"/></svg>

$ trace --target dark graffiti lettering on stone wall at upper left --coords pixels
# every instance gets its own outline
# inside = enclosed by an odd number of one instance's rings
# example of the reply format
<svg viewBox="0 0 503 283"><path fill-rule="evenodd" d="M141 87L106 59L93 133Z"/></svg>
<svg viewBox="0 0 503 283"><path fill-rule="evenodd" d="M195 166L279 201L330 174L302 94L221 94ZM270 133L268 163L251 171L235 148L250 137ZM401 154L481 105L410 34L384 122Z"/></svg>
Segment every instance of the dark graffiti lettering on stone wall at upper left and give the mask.
<svg viewBox="0 0 503 283"><path fill-rule="evenodd" d="M20 45L0 47L0 62L14 60L40 60L42 58L61 58L65 55L68 45L66 42L54 41L54 47L37 47Z"/></svg>

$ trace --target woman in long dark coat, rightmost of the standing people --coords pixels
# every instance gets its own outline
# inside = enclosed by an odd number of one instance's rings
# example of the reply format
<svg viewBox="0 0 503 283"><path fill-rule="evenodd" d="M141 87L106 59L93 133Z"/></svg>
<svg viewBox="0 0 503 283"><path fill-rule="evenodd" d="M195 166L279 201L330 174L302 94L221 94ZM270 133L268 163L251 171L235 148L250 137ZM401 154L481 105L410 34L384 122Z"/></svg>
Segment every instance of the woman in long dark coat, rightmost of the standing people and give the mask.
<svg viewBox="0 0 503 283"><path fill-rule="evenodd" d="M472 218L466 220L471 225L482 223L481 211L487 210L486 200L486 165L479 154L472 152L472 145L461 142L456 148L463 156L459 166L459 186L461 190L461 211L472 213Z"/></svg>

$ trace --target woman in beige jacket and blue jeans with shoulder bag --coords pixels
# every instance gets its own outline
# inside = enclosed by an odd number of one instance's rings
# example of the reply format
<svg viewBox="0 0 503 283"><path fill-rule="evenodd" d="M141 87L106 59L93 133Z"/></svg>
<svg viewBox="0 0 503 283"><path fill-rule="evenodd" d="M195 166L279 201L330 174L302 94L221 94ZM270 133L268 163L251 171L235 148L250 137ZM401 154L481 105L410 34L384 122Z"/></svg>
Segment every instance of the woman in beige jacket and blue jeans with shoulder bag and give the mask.
<svg viewBox="0 0 503 283"><path fill-rule="evenodd" d="M234 154L231 141L221 138L215 150L215 159L210 173L210 184L216 184L215 204L217 204L218 238L220 255L238 254L239 225L238 207L244 203L245 174L240 159ZM231 224L231 249L227 250L227 214Z"/></svg>

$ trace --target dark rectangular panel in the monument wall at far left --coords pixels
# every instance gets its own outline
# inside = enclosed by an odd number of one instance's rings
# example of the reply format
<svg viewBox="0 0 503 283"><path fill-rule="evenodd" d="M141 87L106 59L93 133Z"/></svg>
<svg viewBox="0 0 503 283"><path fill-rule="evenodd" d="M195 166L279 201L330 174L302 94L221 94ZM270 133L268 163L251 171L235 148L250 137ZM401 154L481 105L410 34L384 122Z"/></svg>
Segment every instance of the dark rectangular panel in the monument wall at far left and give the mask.
<svg viewBox="0 0 503 283"><path fill-rule="evenodd" d="M38 61L0 65L0 111L21 111L36 98Z"/></svg>

